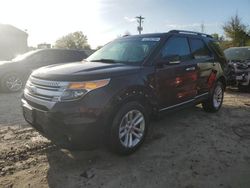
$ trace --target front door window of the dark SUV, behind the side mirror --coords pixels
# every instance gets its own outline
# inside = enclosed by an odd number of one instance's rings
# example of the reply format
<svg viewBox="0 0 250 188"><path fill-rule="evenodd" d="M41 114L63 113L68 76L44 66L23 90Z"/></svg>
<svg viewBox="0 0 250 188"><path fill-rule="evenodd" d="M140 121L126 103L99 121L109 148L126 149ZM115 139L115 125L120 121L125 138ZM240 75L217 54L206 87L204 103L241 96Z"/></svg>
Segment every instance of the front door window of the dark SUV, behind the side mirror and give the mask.
<svg viewBox="0 0 250 188"><path fill-rule="evenodd" d="M162 49L161 55L163 58L179 56L181 60L190 59L191 55L187 38L169 38Z"/></svg>

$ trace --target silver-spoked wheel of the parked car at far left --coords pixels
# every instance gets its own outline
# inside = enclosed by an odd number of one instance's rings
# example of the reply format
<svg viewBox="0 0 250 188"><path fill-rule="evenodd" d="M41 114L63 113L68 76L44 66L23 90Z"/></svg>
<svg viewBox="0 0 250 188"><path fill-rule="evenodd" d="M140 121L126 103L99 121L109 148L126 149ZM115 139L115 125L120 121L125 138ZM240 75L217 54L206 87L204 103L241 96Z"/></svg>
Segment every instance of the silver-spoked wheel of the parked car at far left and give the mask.
<svg viewBox="0 0 250 188"><path fill-rule="evenodd" d="M4 92L18 92L23 86L23 78L17 73L7 73L1 78L1 89Z"/></svg>

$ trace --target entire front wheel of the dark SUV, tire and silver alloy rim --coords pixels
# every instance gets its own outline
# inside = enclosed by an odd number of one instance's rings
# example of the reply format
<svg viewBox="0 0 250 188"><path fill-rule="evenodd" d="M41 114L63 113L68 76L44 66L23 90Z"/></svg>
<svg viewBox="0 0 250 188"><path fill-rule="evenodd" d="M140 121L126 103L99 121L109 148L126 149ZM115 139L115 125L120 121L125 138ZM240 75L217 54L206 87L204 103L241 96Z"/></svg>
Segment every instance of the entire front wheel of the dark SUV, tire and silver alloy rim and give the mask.
<svg viewBox="0 0 250 188"><path fill-rule="evenodd" d="M148 125L149 117L145 107L138 102L124 104L109 127L109 148L121 155L133 153L145 140Z"/></svg>

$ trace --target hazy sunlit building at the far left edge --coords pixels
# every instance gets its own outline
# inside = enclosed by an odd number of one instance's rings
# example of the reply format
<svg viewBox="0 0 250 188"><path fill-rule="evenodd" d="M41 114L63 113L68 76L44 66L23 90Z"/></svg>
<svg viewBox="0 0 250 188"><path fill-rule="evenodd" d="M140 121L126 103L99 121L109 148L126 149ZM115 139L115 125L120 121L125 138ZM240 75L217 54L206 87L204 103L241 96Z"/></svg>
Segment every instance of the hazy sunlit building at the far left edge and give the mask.
<svg viewBox="0 0 250 188"><path fill-rule="evenodd" d="M10 60L28 51L28 34L12 25L0 24L0 60Z"/></svg>

